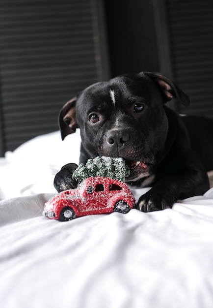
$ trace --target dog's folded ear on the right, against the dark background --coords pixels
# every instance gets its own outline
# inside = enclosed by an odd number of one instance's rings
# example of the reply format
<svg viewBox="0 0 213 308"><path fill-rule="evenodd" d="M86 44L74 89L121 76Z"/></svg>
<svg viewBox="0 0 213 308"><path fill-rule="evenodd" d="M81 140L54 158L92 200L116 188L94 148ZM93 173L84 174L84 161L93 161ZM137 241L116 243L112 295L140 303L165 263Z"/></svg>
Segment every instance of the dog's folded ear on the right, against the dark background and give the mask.
<svg viewBox="0 0 213 308"><path fill-rule="evenodd" d="M170 79L166 78L161 73L145 72L145 74L152 78L153 81L155 81L155 83L160 87L160 90L164 95L165 102L171 100L172 98L178 98L184 106L189 106L189 97Z"/></svg>

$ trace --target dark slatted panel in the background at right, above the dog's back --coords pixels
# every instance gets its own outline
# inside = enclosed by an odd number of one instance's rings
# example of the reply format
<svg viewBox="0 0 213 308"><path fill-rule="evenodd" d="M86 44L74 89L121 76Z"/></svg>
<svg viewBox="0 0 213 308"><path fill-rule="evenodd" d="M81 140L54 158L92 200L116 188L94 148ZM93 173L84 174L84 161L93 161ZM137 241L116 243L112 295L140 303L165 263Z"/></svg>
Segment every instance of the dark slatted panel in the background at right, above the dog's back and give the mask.
<svg viewBox="0 0 213 308"><path fill-rule="evenodd" d="M186 114L213 117L213 1L166 0L173 78L191 98Z"/></svg>

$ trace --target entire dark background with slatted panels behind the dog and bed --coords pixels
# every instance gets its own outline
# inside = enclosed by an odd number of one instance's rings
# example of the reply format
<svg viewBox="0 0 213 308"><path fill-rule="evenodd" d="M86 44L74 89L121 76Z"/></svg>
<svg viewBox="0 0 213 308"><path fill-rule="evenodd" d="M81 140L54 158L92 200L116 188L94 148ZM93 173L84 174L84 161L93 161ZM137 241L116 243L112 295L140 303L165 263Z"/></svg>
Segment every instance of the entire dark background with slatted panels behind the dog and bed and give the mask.
<svg viewBox="0 0 213 308"><path fill-rule="evenodd" d="M58 129L88 85L161 71L213 118L212 0L0 0L0 154Z"/></svg>

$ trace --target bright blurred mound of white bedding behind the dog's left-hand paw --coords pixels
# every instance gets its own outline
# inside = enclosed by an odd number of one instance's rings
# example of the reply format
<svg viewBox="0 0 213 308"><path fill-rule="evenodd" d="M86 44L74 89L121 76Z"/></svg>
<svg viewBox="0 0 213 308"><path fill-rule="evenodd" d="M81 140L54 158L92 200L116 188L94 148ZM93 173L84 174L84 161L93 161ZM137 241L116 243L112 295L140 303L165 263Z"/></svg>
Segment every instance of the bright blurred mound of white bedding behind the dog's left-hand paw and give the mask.
<svg viewBox="0 0 213 308"><path fill-rule="evenodd" d="M79 164L80 131L61 140L60 132L38 136L0 159L0 200L55 192L53 180L69 162Z"/></svg>

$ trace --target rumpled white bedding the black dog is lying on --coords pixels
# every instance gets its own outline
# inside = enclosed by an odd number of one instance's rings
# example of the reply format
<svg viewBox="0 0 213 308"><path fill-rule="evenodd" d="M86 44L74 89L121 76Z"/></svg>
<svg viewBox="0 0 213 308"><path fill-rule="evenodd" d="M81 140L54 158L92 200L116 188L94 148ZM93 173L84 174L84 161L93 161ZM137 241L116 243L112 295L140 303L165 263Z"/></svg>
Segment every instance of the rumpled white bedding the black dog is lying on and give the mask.
<svg viewBox="0 0 213 308"><path fill-rule="evenodd" d="M79 133L68 137L0 161L0 307L212 308L213 188L159 212L48 219L55 172L79 159Z"/></svg>

